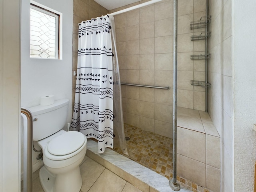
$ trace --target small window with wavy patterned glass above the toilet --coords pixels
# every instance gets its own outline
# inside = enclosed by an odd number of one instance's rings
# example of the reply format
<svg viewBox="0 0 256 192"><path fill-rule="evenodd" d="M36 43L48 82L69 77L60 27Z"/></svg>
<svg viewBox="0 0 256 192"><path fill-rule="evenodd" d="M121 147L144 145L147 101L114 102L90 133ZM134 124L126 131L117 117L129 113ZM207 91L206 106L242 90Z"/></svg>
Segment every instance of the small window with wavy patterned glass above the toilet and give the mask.
<svg viewBox="0 0 256 192"><path fill-rule="evenodd" d="M30 6L30 58L58 59L59 15Z"/></svg>

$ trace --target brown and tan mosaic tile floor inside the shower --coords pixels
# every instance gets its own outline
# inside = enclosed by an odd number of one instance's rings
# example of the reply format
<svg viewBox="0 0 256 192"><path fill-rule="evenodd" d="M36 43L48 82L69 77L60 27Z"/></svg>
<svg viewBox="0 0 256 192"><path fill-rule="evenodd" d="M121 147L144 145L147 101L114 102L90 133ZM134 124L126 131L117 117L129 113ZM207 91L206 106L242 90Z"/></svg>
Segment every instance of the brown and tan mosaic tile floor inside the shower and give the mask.
<svg viewBox="0 0 256 192"><path fill-rule="evenodd" d="M122 154L118 147L114 147L114 150L170 179L172 177L172 139L128 124L124 124L124 131L125 136L130 138L126 141L129 156ZM180 185L193 192L212 192L180 176L177 176L177 180Z"/></svg>

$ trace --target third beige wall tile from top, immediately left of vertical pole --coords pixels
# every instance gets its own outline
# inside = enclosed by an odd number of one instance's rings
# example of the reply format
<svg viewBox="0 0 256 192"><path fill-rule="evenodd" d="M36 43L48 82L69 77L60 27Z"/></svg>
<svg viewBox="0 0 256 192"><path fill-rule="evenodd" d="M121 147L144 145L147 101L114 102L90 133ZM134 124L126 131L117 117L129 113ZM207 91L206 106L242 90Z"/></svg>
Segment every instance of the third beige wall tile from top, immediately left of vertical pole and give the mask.
<svg viewBox="0 0 256 192"><path fill-rule="evenodd" d="M170 52L172 52L172 36L156 37L155 53L170 53Z"/></svg>

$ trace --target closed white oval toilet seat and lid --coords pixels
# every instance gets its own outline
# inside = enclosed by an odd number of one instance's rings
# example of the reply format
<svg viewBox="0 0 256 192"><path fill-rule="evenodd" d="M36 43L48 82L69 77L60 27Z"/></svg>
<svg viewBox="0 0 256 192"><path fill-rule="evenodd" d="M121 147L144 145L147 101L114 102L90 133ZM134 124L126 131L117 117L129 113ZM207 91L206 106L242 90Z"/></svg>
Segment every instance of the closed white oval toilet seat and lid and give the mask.
<svg viewBox="0 0 256 192"><path fill-rule="evenodd" d="M53 138L44 149L50 160L65 160L78 154L86 146L87 139L81 132L69 131Z"/></svg>

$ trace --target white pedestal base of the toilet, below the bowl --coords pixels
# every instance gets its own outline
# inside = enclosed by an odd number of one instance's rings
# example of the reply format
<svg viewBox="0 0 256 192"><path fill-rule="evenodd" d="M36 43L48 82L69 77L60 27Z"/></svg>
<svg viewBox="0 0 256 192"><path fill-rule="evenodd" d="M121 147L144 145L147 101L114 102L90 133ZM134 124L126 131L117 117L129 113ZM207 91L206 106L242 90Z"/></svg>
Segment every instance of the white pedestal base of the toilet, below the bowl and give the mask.
<svg viewBox="0 0 256 192"><path fill-rule="evenodd" d="M44 192L79 192L82 186L82 177L79 166L66 174L52 174L45 166L39 171L39 179Z"/></svg>

